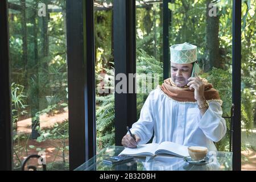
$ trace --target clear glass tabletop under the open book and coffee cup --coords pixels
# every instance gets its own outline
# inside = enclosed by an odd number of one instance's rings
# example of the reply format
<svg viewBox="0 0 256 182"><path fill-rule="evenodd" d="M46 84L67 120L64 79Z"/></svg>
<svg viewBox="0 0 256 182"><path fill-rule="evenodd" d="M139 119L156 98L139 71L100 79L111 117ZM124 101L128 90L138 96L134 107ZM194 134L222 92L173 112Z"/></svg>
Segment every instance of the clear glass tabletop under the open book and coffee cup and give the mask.
<svg viewBox="0 0 256 182"><path fill-rule="evenodd" d="M125 147L110 146L75 171L232 171L232 152L209 151L210 163L194 165L175 156L139 156L127 163L109 165L103 159L120 154Z"/></svg>

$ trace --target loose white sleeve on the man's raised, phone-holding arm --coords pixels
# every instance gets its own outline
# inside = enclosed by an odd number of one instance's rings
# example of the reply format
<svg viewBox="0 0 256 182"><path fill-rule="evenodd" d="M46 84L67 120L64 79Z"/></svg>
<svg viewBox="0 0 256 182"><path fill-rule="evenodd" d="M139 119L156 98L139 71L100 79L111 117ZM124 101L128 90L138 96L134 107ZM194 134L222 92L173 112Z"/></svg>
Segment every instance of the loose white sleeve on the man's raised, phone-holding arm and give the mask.
<svg viewBox="0 0 256 182"><path fill-rule="evenodd" d="M197 118L200 129L213 142L220 141L226 134L226 121L221 116L222 108L220 103L210 101L209 108L203 117Z"/></svg>

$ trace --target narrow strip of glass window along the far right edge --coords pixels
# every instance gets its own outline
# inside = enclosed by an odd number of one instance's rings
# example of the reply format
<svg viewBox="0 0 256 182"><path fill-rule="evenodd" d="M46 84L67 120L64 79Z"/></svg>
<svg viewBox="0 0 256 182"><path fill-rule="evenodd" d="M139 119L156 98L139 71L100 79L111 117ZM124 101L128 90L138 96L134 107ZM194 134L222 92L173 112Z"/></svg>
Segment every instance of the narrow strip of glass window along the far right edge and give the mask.
<svg viewBox="0 0 256 182"><path fill-rule="evenodd" d="M242 2L242 170L256 170L256 1Z"/></svg>

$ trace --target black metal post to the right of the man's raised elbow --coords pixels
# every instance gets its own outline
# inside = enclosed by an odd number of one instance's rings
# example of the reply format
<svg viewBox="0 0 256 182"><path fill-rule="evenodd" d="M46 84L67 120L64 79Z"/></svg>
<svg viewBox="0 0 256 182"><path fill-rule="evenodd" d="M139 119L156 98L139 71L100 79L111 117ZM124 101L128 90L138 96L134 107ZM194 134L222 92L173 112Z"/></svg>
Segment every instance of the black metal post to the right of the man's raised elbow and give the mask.
<svg viewBox="0 0 256 182"><path fill-rule="evenodd" d="M241 0L233 0L232 102L234 104L232 138L233 170L241 171Z"/></svg>

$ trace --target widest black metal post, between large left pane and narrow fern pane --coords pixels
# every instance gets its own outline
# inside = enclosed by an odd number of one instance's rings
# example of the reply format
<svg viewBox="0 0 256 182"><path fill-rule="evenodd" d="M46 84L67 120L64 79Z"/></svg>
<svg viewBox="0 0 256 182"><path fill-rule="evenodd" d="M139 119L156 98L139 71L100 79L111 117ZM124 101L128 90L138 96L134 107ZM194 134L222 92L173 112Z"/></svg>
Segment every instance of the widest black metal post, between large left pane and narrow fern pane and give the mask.
<svg viewBox="0 0 256 182"><path fill-rule="evenodd" d="M67 0L69 168L96 155L93 0Z"/></svg>

